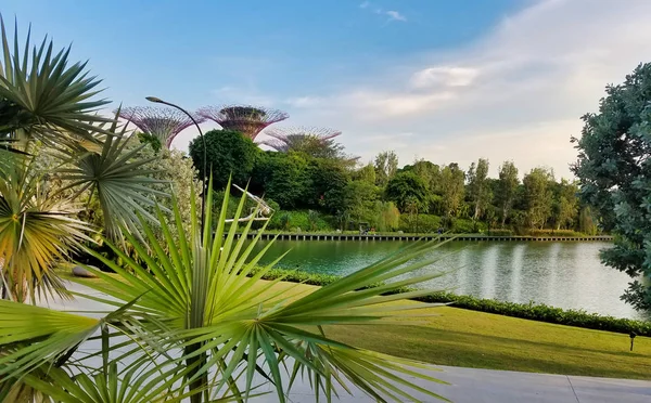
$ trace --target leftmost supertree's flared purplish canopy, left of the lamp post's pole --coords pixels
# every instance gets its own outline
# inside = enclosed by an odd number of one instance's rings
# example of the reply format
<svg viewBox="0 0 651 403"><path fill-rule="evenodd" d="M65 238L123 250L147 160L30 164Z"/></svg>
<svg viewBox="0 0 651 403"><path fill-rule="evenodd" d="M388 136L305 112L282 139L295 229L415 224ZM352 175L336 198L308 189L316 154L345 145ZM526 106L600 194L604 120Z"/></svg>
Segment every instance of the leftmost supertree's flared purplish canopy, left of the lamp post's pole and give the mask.
<svg viewBox="0 0 651 403"><path fill-rule="evenodd" d="M192 126L192 120L182 112L170 107L133 106L116 110L119 117L136 125L143 133L156 138L166 148L183 129ZM205 119L194 116L197 122Z"/></svg>

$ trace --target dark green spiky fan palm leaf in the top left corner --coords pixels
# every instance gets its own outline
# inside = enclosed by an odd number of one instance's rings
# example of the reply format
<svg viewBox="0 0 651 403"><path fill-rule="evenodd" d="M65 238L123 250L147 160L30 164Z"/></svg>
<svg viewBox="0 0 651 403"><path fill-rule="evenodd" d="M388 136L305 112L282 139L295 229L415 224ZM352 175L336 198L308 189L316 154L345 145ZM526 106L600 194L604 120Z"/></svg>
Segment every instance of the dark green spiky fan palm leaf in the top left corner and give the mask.
<svg viewBox="0 0 651 403"><path fill-rule="evenodd" d="M112 119L93 114L108 102L93 100L101 81L86 63L68 65L71 49L54 52L48 38L30 48L29 32L21 47L17 24L12 52L1 15L0 36L0 135L47 144L94 141L94 125Z"/></svg>

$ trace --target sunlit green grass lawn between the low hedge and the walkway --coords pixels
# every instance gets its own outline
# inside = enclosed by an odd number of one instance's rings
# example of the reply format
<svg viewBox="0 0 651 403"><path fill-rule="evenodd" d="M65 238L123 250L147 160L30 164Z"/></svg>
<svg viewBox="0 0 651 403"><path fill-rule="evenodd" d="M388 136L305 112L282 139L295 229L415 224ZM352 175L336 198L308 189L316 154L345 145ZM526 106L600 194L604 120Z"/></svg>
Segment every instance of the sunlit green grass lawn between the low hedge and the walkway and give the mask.
<svg viewBox="0 0 651 403"><path fill-rule="evenodd" d="M92 282L92 280L91 280ZM279 283L288 295L314 286ZM414 307L421 302L401 301ZM433 364L536 373L651 379L651 338L553 325L458 308L424 312L420 326L328 326L339 341Z"/></svg>

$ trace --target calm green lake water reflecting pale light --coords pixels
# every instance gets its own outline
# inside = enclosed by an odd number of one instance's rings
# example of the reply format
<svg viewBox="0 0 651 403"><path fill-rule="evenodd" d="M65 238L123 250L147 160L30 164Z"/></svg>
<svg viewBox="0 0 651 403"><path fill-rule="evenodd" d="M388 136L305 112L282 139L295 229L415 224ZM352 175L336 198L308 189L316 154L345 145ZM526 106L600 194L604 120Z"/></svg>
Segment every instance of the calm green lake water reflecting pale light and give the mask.
<svg viewBox="0 0 651 403"><path fill-rule="evenodd" d="M268 240L260 240L259 250ZM345 275L394 252L406 243L395 240L277 240L263 259L271 262L290 250L278 266L311 273ZM620 300L630 277L601 264L602 242L451 242L431 253L442 259L413 272L452 273L420 287L449 289L459 295L512 302L540 302L583 309L616 317L651 318Z"/></svg>

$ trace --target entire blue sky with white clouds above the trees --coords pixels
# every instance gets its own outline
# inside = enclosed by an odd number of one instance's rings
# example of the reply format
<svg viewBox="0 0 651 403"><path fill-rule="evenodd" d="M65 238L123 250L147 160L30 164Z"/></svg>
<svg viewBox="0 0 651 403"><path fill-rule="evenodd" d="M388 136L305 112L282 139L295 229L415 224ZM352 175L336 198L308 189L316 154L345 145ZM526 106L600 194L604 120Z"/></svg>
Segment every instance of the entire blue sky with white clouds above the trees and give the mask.
<svg viewBox="0 0 651 403"><path fill-rule="evenodd" d="M30 23L34 38L72 43L112 107L148 95L272 107L290 114L279 127L341 130L363 162L388 150L400 165L488 158L493 176L513 160L571 178L580 117L651 62L648 0L2 0L0 11L23 35Z"/></svg>

